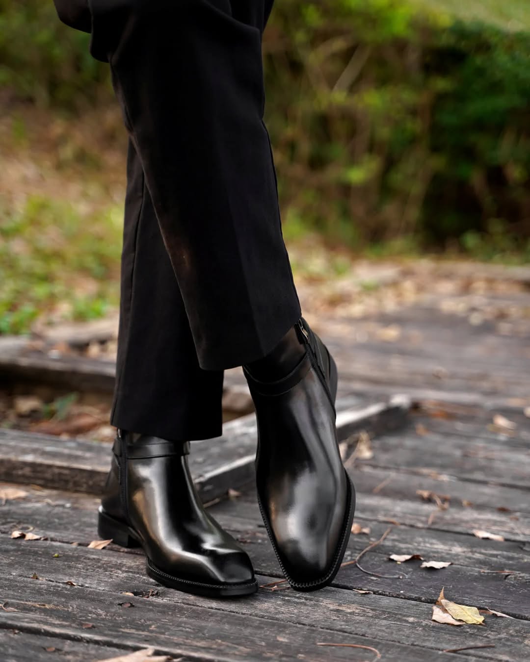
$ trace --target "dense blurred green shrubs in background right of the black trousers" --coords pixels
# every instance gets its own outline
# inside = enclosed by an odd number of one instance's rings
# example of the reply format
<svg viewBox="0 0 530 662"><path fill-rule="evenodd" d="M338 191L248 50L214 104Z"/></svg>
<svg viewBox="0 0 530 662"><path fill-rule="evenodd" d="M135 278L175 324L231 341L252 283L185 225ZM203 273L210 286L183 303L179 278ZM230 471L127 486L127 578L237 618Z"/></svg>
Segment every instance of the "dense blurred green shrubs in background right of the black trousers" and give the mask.
<svg viewBox="0 0 530 662"><path fill-rule="evenodd" d="M287 2L265 46L289 217L353 246L484 243L492 219L530 238L530 34L398 0Z"/></svg>

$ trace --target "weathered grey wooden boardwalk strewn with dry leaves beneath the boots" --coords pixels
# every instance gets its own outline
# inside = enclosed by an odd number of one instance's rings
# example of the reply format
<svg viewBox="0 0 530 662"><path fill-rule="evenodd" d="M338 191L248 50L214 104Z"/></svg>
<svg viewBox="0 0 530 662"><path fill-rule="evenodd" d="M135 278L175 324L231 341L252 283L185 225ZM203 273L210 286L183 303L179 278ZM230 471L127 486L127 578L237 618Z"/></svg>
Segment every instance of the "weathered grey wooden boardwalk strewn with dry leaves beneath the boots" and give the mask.
<svg viewBox="0 0 530 662"><path fill-rule="evenodd" d="M25 494L0 505L0 659L95 661L149 647L186 661L530 659L530 292L481 296L482 308L426 297L321 328L339 358L344 461L364 532L319 592L281 581L249 482L252 417L192 447L203 498L258 575L258 593L242 600L160 587L138 551L87 547L107 446L1 431L0 497ZM238 389L240 375L227 382ZM390 402L399 393L410 408ZM12 539L14 530L44 539ZM361 570L353 561L371 543ZM435 623L442 587L511 618Z"/></svg>

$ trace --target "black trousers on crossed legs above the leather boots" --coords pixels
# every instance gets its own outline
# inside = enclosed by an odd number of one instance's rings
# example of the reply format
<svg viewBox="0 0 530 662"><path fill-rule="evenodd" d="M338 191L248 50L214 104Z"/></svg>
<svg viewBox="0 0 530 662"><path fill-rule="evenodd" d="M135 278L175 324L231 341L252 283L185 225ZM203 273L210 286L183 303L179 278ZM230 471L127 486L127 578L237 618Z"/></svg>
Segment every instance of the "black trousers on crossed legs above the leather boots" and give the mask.
<svg viewBox="0 0 530 662"><path fill-rule="evenodd" d="M54 0L109 62L129 132L111 423L221 434L223 369L301 312L263 123L273 0Z"/></svg>

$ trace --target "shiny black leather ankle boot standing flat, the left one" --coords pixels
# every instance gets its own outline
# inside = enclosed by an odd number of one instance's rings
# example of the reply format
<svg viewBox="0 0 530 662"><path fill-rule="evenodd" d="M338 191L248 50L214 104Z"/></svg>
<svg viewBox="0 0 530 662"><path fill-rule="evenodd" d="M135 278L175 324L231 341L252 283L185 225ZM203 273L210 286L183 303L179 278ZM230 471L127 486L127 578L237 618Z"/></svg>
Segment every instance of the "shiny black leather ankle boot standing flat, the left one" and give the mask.
<svg viewBox="0 0 530 662"><path fill-rule="evenodd" d="M203 508L188 453L189 442L119 431L99 535L143 547L147 574L172 589L211 597L254 593L250 559Z"/></svg>

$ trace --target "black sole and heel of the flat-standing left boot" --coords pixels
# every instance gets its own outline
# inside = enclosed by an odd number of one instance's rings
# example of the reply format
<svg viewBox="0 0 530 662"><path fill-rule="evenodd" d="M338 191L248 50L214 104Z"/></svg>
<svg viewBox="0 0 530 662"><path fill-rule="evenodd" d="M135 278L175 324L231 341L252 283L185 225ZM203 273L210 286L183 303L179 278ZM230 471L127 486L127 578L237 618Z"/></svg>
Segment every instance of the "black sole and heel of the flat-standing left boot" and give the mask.
<svg viewBox="0 0 530 662"><path fill-rule="evenodd" d="M124 522L116 520L106 512L103 512L101 506L99 506L97 512L97 533L103 540L111 539L115 545L120 545L120 547L143 548L142 543L138 540L131 527L127 526ZM159 584L170 589L177 589L178 591L183 591L185 593L202 595L209 598L233 598L242 595L250 595L258 590L258 582L256 580L240 584L207 584L191 581L191 579L183 579L182 577L175 577L174 575L168 575L168 573L164 573L162 570L158 569L147 555L146 573L151 579L154 579Z"/></svg>

